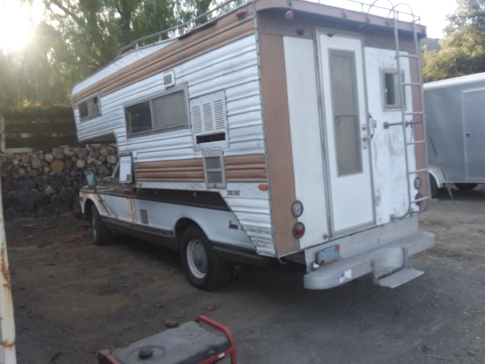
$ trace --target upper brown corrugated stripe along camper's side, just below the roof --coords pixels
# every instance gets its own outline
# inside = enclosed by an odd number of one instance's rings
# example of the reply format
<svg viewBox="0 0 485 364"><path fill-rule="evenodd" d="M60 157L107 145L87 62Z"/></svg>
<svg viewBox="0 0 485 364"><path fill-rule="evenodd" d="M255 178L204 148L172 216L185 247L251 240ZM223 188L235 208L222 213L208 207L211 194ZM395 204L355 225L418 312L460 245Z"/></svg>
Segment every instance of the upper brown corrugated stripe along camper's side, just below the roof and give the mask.
<svg viewBox="0 0 485 364"><path fill-rule="evenodd" d="M239 20L235 13L228 14L226 17L204 25L204 27L193 33L185 34L173 44L157 50L145 58L123 67L86 87L72 96L73 107L77 107L78 100L96 91L99 91L100 96L106 96L130 84L145 80L211 50L253 34L253 8L250 5L246 6L246 8L248 14L242 20Z"/></svg>

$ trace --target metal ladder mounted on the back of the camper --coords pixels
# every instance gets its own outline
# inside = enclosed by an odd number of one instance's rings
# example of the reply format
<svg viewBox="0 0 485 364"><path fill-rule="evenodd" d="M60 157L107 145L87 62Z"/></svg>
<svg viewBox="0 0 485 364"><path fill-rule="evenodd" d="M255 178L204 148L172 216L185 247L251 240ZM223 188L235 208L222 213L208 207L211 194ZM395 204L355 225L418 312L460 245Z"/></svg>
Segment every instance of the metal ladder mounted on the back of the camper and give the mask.
<svg viewBox="0 0 485 364"><path fill-rule="evenodd" d="M391 220L399 220L403 219L404 217L412 214L420 214L424 211L426 211L429 207L430 204L430 181L429 181L429 167L428 167L428 150L426 147L426 118L424 114L424 93L423 93L423 86L422 86L422 75L421 75L421 58L420 58L420 44L418 40L418 21L420 21L420 17L417 17L414 15L414 13L411 10L411 14L409 13L404 13L406 15L411 15L413 17L413 33L414 33L414 44L416 48L416 54L403 54L401 53L401 50L399 48L399 32L398 32L398 21L399 21L399 11L396 10L396 7L399 5L403 4L398 4L392 7L392 9L389 12L389 15L392 13L393 15L393 23L394 23L394 40L396 44L396 62L397 62L397 71L398 71L398 80L399 80L399 90L400 90L400 100L401 100L401 115L402 115L402 122L397 122L397 123L384 123L384 128L387 129L391 126L398 126L401 125L403 128L403 135L404 135L404 156L406 159L406 182L407 182L407 190L408 190L408 210L404 215L401 216L395 216L391 215ZM405 4L404 4L405 5ZM417 64L417 69L418 69L418 82L404 82L402 79L402 67L401 67L401 58L409 58L409 61L411 62L413 59L416 60ZM405 109L405 103L404 103L404 87L409 86L409 87L418 87L419 89L419 101L420 101L420 110L421 111L409 111L406 112ZM406 117L410 116L412 118L411 121L407 121ZM421 116L421 120L414 120L415 116ZM423 132L423 139L421 140L414 140L414 141L407 141L406 138L406 128L408 126L412 126L414 128L414 125L422 125L422 132ZM414 132L412 133L414 137ZM409 146L414 146L416 148L417 145L422 145L422 148L424 149L424 163L425 167L421 169L416 169L416 170L410 170L409 167L409 159L408 159L408 147ZM426 185L427 185L427 191L428 191L428 196L421 197L418 199L412 198L411 197L411 183L409 182L410 176L418 176L419 173L421 172L426 172ZM422 201L426 201L426 206L424 208L421 208L419 206L418 210L413 209L413 204L414 203L420 203Z"/></svg>

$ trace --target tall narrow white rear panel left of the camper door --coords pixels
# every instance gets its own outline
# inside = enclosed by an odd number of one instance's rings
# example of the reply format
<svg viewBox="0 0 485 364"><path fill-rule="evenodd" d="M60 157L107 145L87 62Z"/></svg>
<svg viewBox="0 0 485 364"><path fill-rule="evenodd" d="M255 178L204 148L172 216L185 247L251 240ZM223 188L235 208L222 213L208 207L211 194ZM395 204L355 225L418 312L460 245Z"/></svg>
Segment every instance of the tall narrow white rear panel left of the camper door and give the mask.
<svg viewBox="0 0 485 364"><path fill-rule="evenodd" d="M295 192L303 203L298 221L306 227L300 248L307 248L323 243L323 234L329 234L315 54L311 39L285 36L283 44Z"/></svg>

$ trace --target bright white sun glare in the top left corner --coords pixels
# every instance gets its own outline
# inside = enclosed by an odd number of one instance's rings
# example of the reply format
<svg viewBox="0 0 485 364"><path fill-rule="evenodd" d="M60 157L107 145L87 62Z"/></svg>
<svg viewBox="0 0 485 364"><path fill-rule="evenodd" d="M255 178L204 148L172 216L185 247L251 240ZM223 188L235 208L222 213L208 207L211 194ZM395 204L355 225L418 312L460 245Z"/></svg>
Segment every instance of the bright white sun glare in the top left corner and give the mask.
<svg viewBox="0 0 485 364"><path fill-rule="evenodd" d="M0 0L0 50L23 49L32 37L30 9L27 3Z"/></svg>

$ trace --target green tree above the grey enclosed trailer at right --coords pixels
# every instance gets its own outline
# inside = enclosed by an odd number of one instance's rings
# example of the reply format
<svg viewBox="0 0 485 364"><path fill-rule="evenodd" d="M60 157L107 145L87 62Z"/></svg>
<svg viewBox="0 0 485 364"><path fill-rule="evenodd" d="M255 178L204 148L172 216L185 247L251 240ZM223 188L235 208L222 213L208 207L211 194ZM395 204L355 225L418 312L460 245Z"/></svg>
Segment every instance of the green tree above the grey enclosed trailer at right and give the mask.
<svg viewBox="0 0 485 364"><path fill-rule="evenodd" d="M457 0L441 50L423 52L426 82L485 72L485 0Z"/></svg>

